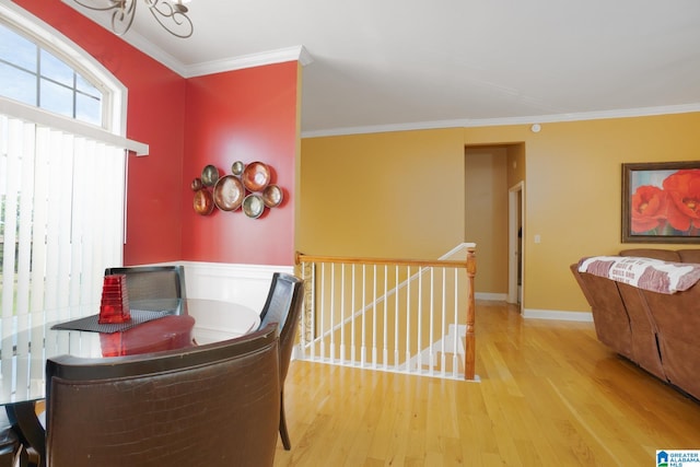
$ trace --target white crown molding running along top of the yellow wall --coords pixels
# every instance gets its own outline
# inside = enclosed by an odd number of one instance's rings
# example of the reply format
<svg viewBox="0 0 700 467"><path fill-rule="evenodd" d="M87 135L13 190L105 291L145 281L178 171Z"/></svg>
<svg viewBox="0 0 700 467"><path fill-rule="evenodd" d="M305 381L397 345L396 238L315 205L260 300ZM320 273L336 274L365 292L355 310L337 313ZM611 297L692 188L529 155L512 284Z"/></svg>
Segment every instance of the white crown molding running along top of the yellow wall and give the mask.
<svg viewBox="0 0 700 467"><path fill-rule="evenodd" d="M302 138L337 137L348 135L382 133L390 131L433 130L440 128L499 127L506 125L555 124L562 121L599 120L606 118L650 117L654 115L690 114L700 112L700 103L660 107L639 107L575 114L532 115L503 118L466 118L455 120L420 121L412 124L375 125L368 127L330 128L303 131Z"/></svg>

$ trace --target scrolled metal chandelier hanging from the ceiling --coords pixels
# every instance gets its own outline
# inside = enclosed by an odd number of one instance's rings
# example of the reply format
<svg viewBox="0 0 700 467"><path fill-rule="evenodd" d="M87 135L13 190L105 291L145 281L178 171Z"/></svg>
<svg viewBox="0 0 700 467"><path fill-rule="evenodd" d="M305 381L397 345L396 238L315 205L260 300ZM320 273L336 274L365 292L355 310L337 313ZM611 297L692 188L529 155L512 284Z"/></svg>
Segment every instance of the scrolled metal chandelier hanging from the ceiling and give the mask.
<svg viewBox="0 0 700 467"><path fill-rule="evenodd" d="M161 26L176 37L187 38L192 35L192 22L187 16L188 0L143 0L147 8ZM74 0L81 7L96 11L112 12L112 31L121 36L129 31L136 16L138 0Z"/></svg>

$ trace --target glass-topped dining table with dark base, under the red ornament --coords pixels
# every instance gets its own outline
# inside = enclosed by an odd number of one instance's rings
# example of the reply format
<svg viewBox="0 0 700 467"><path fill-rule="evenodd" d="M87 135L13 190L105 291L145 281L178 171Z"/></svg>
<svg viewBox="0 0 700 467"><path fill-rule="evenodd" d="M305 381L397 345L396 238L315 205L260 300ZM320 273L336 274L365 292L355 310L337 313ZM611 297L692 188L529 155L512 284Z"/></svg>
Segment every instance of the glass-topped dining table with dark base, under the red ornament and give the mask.
<svg viewBox="0 0 700 467"><path fill-rule="evenodd" d="M38 453L39 465L45 431L36 404L46 397L47 359L118 359L187 349L244 336L260 324L258 312L218 300L130 302L130 318L116 324L101 324L98 311L100 305L60 307L0 323L0 405L21 441Z"/></svg>

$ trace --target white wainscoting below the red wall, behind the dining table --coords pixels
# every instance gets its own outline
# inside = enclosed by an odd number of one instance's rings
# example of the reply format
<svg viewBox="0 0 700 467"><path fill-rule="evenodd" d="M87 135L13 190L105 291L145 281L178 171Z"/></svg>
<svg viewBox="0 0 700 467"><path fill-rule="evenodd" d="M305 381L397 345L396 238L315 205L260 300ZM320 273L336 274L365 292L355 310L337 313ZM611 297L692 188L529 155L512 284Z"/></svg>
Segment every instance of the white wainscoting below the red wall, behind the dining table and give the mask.
<svg viewBox="0 0 700 467"><path fill-rule="evenodd" d="M275 272L294 273L293 266L231 265L180 261L187 296L234 302L260 311Z"/></svg>

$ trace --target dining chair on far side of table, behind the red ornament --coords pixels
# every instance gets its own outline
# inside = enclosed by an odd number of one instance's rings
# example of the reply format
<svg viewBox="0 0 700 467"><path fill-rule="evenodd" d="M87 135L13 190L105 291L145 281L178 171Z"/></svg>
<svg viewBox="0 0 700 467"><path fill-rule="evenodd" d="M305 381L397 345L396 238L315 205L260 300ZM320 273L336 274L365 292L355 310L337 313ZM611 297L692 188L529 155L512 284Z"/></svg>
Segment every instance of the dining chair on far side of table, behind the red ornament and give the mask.
<svg viewBox="0 0 700 467"><path fill-rule="evenodd" d="M132 266L106 268L105 276L125 275L130 302L140 302L140 310L159 310L164 299L186 299L183 266ZM149 306L148 301L153 301Z"/></svg>

